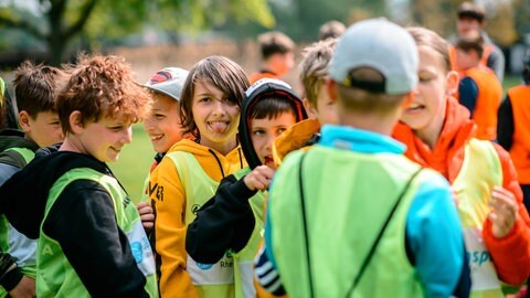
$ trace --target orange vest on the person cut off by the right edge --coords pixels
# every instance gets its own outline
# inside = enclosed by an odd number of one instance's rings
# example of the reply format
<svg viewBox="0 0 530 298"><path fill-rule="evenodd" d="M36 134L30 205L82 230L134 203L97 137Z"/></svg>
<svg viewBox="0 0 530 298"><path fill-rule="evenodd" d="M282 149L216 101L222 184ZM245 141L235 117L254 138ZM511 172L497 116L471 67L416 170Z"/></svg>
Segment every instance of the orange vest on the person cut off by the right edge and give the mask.
<svg viewBox="0 0 530 298"><path fill-rule="evenodd" d="M530 86L508 91L513 111L513 140L510 157L516 166L519 183L530 184Z"/></svg>

